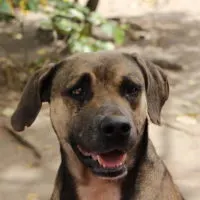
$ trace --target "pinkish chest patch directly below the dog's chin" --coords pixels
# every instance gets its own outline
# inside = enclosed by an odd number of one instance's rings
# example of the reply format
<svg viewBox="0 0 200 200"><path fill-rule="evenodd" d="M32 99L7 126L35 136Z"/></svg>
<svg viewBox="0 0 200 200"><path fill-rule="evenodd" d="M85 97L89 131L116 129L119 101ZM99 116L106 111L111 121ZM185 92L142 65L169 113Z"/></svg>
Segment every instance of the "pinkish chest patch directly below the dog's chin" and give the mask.
<svg viewBox="0 0 200 200"><path fill-rule="evenodd" d="M120 186L116 183L91 183L79 186L78 200L120 200Z"/></svg>

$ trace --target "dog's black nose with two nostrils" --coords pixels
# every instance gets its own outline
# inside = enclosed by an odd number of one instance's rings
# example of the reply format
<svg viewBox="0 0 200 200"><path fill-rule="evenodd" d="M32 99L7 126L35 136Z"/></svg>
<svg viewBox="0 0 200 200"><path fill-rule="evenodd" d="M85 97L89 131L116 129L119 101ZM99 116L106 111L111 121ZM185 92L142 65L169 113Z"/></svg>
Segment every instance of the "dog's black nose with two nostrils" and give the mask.
<svg viewBox="0 0 200 200"><path fill-rule="evenodd" d="M126 139L131 132L131 125L124 116L106 116L101 121L101 132L106 137Z"/></svg>

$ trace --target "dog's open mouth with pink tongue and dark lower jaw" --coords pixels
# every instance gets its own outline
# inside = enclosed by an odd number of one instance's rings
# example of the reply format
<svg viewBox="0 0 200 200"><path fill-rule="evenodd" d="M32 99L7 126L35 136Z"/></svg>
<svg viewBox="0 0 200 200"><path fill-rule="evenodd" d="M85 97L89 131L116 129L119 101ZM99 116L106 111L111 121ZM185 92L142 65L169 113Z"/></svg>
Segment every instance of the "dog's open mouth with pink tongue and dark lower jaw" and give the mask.
<svg viewBox="0 0 200 200"><path fill-rule="evenodd" d="M72 148L82 164L99 178L116 180L127 174L126 152L118 149L103 153L88 152L79 145L72 145Z"/></svg>

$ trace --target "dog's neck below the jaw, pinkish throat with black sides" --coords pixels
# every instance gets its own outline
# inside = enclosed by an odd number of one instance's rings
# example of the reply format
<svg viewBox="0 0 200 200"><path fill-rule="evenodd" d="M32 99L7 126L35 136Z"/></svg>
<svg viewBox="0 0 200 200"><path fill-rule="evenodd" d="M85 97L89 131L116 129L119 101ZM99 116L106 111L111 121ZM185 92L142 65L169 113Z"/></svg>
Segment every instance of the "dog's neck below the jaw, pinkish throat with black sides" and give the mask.
<svg viewBox="0 0 200 200"><path fill-rule="evenodd" d="M65 154L61 148L62 163L58 172L54 195L51 200L129 200L134 196L136 181L139 168L146 158L148 145L148 122L144 126L143 136L138 144L136 162L134 167L129 170L124 180L107 181L94 176L88 169L80 164L78 158ZM67 148L71 148L68 146ZM72 149L71 149L72 150ZM73 151L73 150L72 150ZM69 152L69 149L68 149ZM71 160L69 160L71 159ZM70 166L70 163L74 163ZM72 168L73 167L73 168ZM77 173L78 171L78 173ZM74 174L79 174L74 176ZM132 185L132 187L130 187Z"/></svg>

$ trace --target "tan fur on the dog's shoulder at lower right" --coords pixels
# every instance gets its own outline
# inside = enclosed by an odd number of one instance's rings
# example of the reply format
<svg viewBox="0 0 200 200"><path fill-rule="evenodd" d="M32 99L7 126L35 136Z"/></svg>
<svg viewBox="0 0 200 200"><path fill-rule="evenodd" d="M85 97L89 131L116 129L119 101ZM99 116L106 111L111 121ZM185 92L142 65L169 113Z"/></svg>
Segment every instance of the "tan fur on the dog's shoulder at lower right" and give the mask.
<svg viewBox="0 0 200 200"><path fill-rule="evenodd" d="M140 178L136 183L140 184L142 190L132 200L183 200L163 161L155 154L150 140L147 157L149 162L141 166Z"/></svg>

